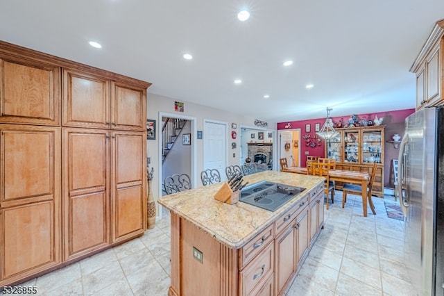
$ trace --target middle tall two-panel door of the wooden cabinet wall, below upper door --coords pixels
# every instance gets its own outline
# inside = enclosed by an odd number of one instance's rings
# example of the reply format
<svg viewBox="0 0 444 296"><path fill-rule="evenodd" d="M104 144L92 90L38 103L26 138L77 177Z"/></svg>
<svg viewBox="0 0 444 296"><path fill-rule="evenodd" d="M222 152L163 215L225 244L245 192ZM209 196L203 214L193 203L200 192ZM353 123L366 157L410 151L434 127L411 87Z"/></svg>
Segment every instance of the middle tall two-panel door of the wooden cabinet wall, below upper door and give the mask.
<svg viewBox="0 0 444 296"><path fill-rule="evenodd" d="M109 131L63 129L65 260L110 243Z"/></svg>

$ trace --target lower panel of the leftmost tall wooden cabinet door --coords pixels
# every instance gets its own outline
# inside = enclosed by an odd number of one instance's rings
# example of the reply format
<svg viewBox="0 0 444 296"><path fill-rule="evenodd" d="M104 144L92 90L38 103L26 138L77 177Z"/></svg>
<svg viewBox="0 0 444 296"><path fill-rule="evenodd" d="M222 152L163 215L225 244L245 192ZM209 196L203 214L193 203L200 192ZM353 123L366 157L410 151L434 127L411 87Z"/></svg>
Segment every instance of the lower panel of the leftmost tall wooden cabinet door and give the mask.
<svg viewBox="0 0 444 296"><path fill-rule="evenodd" d="M1 210L1 279L60 262L54 214L52 201Z"/></svg>

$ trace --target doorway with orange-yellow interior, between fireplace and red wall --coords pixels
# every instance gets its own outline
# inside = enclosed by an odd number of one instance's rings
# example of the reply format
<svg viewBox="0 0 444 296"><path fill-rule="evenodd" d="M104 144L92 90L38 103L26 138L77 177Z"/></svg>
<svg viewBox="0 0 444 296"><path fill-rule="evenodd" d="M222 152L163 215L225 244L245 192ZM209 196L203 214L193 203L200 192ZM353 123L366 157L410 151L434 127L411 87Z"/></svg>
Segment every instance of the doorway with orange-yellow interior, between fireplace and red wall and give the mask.
<svg viewBox="0 0 444 296"><path fill-rule="evenodd" d="M300 166L300 129L278 131L279 158L287 158L289 166Z"/></svg>

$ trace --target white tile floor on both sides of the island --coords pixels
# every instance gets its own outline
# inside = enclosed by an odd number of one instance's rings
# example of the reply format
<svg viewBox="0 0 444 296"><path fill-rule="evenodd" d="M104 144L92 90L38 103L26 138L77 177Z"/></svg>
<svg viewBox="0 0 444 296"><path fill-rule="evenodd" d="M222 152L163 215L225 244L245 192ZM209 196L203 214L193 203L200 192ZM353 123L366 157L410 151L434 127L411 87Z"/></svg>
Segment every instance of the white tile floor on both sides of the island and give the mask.
<svg viewBox="0 0 444 296"><path fill-rule="evenodd" d="M377 215L362 215L361 197L341 191L325 211L321 231L298 276L293 295L411 295L402 263L403 222L386 215L384 199L373 198ZM169 215L154 229L105 252L32 279L37 295L168 295L170 284Z"/></svg>

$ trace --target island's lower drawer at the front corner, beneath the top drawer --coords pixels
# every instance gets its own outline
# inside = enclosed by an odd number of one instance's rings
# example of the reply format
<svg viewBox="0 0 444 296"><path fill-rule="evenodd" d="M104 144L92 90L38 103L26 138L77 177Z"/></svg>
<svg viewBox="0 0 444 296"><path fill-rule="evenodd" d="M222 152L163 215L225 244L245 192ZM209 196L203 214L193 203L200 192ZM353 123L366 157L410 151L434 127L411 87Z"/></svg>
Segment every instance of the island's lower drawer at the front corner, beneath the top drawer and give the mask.
<svg viewBox="0 0 444 296"><path fill-rule="evenodd" d="M274 266L274 244L268 246L259 253L259 255L250 264L239 272L239 294L254 295L253 290L262 287L264 283L273 274Z"/></svg>

